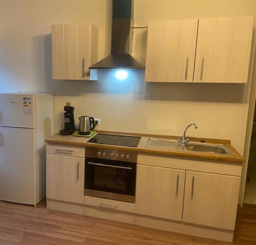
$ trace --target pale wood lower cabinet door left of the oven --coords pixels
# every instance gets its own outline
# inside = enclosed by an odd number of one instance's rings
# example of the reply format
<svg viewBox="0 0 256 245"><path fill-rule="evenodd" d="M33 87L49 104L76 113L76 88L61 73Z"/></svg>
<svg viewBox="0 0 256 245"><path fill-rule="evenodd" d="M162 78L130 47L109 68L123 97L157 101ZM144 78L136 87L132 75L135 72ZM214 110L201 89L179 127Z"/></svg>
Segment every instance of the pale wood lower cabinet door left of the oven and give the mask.
<svg viewBox="0 0 256 245"><path fill-rule="evenodd" d="M84 204L84 158L46 155L46 198Z"/></svg>

